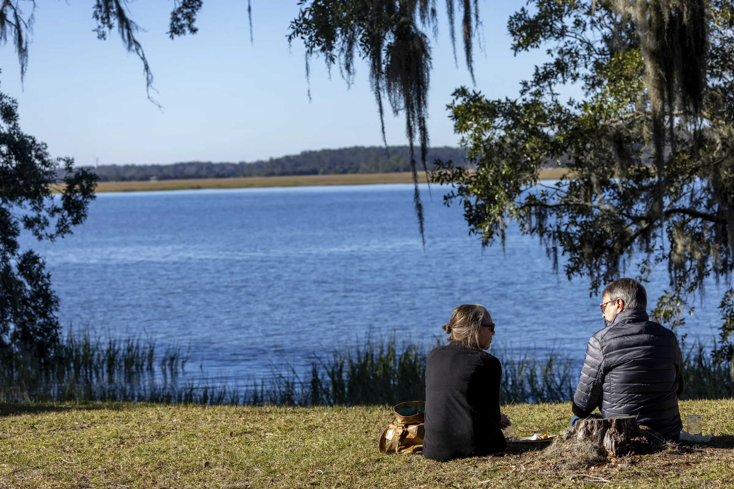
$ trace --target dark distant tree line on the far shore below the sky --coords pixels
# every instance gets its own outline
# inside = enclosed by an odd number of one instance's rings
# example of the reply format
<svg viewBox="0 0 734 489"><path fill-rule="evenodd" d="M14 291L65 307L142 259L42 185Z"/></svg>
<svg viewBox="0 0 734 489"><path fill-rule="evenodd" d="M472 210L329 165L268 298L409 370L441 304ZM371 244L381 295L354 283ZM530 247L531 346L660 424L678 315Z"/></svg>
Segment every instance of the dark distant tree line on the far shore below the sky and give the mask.
<svg viewBox="0 0 734 489"><path fill-rule="evenodd" d="M428 152L429 170L433 161L466 162L460 148L437 147ZM90 168L100 182L130 180L170 180L174 178L273 177L277 175L315 175L344 173L410 172L410 148L407 146L349 147L339 150L304 151L299 155L271 158L254 163L212 163L188 161L170 165L109 165Z"/></svg>

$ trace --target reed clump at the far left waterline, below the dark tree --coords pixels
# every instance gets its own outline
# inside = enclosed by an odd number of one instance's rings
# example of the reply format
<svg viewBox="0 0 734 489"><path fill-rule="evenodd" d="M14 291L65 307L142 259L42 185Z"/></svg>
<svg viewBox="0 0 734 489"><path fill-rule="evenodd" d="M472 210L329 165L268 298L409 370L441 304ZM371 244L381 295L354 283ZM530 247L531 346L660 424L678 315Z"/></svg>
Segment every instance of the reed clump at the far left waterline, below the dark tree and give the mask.
<svg viewBox="0 0 734 489"><path fill-rule="evenodd" d="M188 359L181 348L157 352L154 342L72 331L45 359L22 348L0 350L0 400L208 403L211 388L178 382Z"/></svg>

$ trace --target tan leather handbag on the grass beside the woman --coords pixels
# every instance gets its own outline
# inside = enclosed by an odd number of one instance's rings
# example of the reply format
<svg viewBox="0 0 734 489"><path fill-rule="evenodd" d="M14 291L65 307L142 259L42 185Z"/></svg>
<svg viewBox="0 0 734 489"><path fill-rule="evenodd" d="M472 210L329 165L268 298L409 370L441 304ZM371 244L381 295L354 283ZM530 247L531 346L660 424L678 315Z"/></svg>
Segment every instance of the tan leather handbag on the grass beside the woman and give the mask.
<svg viewBox="0 0 734 489"><path fill-rule="evenodd" d="M423 453L423 438L426 434L424 419L426 403L423 401L401 402L393 408L395 419L379 437L380 453Z"/></svg>

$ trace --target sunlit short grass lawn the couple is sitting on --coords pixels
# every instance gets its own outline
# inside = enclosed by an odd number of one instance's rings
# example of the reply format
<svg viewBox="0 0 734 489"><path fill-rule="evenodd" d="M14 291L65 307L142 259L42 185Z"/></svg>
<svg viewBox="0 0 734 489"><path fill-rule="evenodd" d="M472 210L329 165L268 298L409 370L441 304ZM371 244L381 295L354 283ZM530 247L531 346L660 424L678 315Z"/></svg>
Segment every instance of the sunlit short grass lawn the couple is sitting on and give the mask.
<svg viewBox="0 0 734 489"><path fill-rule="evenodd" d="M0 488L557 488L734 484L734 400L683 401L710 444L550 471L539 448L437 463L380 455L388 407L0 404ZM504 407L518 436L557 433L570 405ZM584 482L593 476L610 482Z"/></svg>

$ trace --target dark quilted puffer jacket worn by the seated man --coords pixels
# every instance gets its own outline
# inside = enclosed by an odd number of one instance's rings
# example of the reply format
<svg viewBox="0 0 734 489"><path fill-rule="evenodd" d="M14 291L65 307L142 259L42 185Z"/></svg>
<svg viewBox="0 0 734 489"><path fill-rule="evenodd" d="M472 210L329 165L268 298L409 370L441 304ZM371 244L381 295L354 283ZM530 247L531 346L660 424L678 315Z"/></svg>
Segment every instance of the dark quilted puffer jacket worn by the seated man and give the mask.
<svg viewBox="0 0 734 489"><path fill-rule="evenodd" d="M683 427L681 392L683 359L675 334L644 310L631 309L589 339L573 413L585 418L599 407L605 418L637 416L639 424L675 438Z"/></svg>

